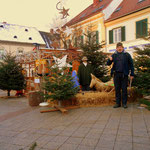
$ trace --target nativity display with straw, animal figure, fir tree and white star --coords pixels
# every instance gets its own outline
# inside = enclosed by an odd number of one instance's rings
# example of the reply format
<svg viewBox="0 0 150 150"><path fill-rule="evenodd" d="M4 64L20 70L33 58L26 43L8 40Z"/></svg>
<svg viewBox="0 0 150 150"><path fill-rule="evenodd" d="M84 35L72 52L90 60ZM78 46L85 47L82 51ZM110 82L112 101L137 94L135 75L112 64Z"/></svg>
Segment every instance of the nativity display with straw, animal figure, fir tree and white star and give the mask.
<svg viewBox="0 0 150 150"><path fill-rule="evenodd" d="M66 113L69 109L79 107L114 104L113 78L109 78L108 81L103 79L102 81L94 75L94 72L93 74L90 73L90 90L84 91L78 77L80 59L76 57L78 59L70 61L72 57L69 55L53 55L51 58L50 63L45 66L47 69L39 67L46 72L38 77L40 79L39 83L34 83L34 85L39 84L39 89L36 90L41 92L44 100L44 102L39 102L38 105L47 106L47 108L41 110L41 113L58 110ZM41 65L43 64L41 63ZM131 100L135 96L134 92L132 90Z"/></svg>

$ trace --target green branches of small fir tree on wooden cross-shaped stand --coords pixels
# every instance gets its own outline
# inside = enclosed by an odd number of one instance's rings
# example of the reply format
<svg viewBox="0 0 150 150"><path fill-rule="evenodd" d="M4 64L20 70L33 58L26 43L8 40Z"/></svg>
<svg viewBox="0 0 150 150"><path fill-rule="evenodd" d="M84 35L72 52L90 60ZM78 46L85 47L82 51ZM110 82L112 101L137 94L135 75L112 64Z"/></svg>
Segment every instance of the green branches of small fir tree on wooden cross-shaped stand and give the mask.
<svg viewBox="0 0 150 150"><path fill-rule="evenodd" d="M51 70L51 75L45 77L43 85L45 99L58 100L61 102L75 96L78 92L78 88L73 87L73 78L68 72L68 68L59 68L57 63L49 68Z"/></svg>

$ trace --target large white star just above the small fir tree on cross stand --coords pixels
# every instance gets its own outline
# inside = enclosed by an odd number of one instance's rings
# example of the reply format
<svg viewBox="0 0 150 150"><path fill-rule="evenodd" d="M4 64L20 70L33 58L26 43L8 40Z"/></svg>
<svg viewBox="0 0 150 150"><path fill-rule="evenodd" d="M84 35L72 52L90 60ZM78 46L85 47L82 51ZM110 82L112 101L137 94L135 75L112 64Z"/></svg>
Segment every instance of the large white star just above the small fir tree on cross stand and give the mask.
<svg viewBox="0 0 150 150"><path fill-rule="evenodd" d="M53 56L55 63L58 65L59 69L63 68L63 67L72 67L70 64L68 64L66 62L67 59L67 55L65 55L62 59L59 59L55 56ZM55 67L56 65L54 65L53 67Z"/></svg>

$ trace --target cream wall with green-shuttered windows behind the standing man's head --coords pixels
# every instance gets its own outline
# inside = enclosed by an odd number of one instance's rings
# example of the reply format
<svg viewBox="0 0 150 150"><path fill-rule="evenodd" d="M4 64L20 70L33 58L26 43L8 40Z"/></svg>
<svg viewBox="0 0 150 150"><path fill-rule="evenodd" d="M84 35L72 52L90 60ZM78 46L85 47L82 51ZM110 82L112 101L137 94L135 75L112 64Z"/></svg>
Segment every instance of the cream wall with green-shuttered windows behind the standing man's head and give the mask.
<svg viewBox="0 0 150 150"><path fill-rule="evenodd" d="M150 44L150 41L142 38L148 35L150 29L150 7L112 21L106 21L105 28L107 41L105 51L114 52L116 43L122 42L125 50L132 55L134 47Z"/></svg>

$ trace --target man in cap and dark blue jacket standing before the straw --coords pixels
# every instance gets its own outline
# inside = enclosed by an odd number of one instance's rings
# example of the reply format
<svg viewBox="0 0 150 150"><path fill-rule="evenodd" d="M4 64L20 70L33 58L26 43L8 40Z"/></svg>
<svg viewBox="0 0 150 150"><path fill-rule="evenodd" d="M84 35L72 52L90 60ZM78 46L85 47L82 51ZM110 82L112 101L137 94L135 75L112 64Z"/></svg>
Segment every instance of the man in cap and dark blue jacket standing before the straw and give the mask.
<svg viewBox="0 0 150 150"><path fill-rule="evenodd" d="M127 108L127 86L128 86L128 75L130 72L130 81L134 77L134 67L131 55L124 50L121 42L117 43L115 53L109 57L107 65L111 65L111 75L114 74L114 85L116 95L116 105L114 108L118 108L122 105Z"/></svg>

